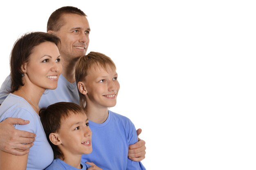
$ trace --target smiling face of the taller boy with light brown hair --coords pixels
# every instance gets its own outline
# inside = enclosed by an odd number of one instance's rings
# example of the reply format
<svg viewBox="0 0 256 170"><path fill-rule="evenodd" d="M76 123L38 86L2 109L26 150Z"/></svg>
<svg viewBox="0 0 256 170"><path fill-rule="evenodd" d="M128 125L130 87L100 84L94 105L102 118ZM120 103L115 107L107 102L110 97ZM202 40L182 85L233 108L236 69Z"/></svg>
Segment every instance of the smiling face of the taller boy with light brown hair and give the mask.
<svg viewBox="0 0 256 170"><path fill-rule="evenodd" d="M113 107L117 104L117 94L120 88L115 68L91 68L85 77L86 103L90 106Z"/></svg>

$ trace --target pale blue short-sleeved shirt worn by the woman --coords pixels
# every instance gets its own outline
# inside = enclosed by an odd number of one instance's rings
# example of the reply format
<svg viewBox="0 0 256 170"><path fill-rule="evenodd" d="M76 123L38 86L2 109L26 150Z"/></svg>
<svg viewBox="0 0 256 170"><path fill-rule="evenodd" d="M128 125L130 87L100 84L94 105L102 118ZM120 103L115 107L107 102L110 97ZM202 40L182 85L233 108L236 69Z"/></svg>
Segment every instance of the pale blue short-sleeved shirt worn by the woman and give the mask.
<svg viewBox="0 0 256 170"><path fill-rule="evenodd" d="M7 117L16 117L30 121L27 125L15 125L15 128L18 130L25 130L36 134L34 146L29 149L27 170L44 170L52 163L54 155L38 114L25 99L10 93L0 106L0 121Z"/></svg>

